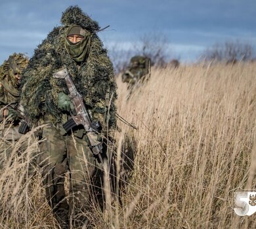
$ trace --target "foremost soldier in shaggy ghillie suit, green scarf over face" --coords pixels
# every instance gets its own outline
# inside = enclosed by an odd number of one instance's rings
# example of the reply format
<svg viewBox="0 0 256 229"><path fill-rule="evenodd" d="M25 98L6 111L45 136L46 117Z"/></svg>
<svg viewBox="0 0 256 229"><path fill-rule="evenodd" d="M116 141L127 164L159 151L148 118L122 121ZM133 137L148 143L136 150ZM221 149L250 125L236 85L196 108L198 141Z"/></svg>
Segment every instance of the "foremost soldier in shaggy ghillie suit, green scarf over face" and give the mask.
<svg viewBox="0 0 256 229"><path fill-rule="evenodd" d="M53 213L62 228L82 228L88 221L86 213L90 211L91 185L97 179L98 162L88 147L83 126L68 133L62 127L74 104L65 80L55 79L53 74L64 67L68 69L91 120L102 125L102 139L116 127L116 82L112 62L96 35L98 23L77 6L63 12L61 23L35 49L24 72L21 101L33 122L47 124L38 161L43 167L47 200ZM68 202L64 192L67 170Z"/></svg>

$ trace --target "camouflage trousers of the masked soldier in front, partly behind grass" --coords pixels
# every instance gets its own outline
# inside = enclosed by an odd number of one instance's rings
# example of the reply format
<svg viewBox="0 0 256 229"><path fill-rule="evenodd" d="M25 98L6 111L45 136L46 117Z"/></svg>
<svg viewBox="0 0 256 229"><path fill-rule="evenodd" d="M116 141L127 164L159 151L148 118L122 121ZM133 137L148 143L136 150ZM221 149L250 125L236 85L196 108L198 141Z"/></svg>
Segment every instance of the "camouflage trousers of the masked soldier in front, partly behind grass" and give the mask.
<svg viewBox="0 0 256 229"><path fill-rule="evenodd" d="M62 135L50 124L43 128L41 154L46 197L62 228L82 228L88 223L92 186L100 179L101 169L85 138ZM68 172L69 176L65 176ZM69 185L65 178L68 177ZM86 226L83 228L87 228Z"/></svg>

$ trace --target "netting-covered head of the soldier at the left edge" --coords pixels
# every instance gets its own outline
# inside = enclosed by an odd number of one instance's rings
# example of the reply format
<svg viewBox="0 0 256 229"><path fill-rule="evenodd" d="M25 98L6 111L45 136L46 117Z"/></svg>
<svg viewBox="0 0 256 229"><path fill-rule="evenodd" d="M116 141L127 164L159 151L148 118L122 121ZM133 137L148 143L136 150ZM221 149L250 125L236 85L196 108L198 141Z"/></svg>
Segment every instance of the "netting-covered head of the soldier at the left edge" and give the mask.
<svg viewBox="0 0 256 229"><path fill-rule="evenodd" d="M12 54L5 61L3 69L8 77L8 80L13 86L19 86L22 77L22 71L28 66L28 57L24 54Z"/></svg>

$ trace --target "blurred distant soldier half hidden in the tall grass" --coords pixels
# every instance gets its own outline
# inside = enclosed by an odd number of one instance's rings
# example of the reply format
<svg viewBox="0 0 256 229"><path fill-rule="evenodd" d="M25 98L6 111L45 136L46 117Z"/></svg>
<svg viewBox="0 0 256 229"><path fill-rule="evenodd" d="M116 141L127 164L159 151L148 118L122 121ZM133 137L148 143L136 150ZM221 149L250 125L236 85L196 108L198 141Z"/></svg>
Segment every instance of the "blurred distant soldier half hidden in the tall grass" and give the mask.
<svg viewBox="0 0 256 229"><path fill-rule="evenodd" d="M133 58L131 58L128 69L122 75L122 82L128 83L128 89L148 79L150 75L150 63L150 58L146 56L133 56Z"/></svg>

